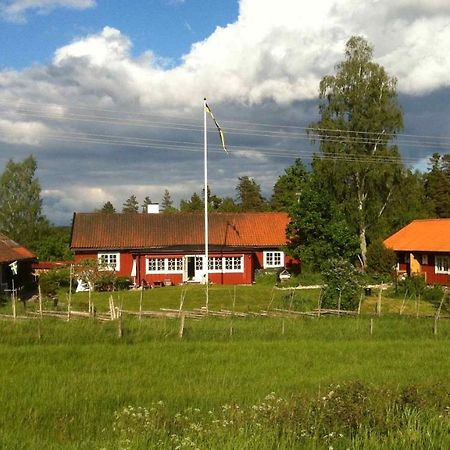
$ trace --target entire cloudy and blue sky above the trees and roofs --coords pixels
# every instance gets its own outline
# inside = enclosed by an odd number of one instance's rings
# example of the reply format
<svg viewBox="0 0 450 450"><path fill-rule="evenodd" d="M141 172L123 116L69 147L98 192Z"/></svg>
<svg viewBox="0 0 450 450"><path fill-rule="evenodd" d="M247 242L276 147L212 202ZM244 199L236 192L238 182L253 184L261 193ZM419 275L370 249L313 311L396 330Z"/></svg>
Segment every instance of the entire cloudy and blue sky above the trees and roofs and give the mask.
<svg viewBox="0 0 450 450"><path fill-rule="evenodd" d="M269 196L315 150L318 89L352 35L397 79L404 163L427 169L450 147L448 0L0 0L0 171L37 159L44 212L131 195L175 206L201 193L203 98L209 185L235 197L239 176Z"/></svg>

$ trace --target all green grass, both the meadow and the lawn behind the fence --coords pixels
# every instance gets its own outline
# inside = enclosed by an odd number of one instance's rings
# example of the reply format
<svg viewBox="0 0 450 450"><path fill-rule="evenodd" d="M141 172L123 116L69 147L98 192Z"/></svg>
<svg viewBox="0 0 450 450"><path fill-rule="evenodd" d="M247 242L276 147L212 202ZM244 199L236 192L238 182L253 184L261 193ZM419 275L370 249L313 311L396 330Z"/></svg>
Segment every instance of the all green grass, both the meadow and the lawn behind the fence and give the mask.
<svg viewBox="0 0 450 450"><path fill-rule="evenodd" d="M145 291L144 309L178 308L182 289ZM137 310L139 294L115 302ZM241 311L318 298L269 284L210 294L211 309ZM92 297L98 311L108 297ZM203 304L189 288L183 308ZM381 317L189 319L183 339L179 319L125 317L122 338L117 321L1 321L0 448L449 448L450 321L435 335L432 318L393 314L400 304L385 300Z"/></svg>

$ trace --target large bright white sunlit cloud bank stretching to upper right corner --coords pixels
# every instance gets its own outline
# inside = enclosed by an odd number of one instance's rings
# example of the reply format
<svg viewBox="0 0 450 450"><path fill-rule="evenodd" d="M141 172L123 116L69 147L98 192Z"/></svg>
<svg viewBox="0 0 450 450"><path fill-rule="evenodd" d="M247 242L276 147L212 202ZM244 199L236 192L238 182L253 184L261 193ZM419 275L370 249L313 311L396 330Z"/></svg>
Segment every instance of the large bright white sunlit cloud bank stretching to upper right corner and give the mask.
<svg viewBox="0 0 450 450"><path fill-rule="evenodd" d="M54 65L71 72L80 90L94 85L99 93L123 97L126 89L129 98L148 107L193 106L204 96L216 102L289 104L316 98L320 79L342 59L346 40L362 33L374 44L377 59L398 77L401 92L448 86L450 8L413 0L390 5L388 0L309 5L241 0L238 20L194 44L175 68L160 64L151 52L133 59L130 40L110 27L57 50ZM401 12L408 5L405 19Z"/></svg>

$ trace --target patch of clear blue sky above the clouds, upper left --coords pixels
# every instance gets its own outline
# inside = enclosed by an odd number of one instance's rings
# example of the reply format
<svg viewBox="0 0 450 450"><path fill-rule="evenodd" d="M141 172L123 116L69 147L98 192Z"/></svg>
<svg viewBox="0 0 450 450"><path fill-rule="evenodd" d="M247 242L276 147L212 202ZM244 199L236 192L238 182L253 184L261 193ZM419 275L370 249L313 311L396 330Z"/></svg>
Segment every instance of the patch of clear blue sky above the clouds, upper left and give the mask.
<svg viewBox="0 0 450 450"><path fill-rule="evenodd" d="M0 67L48 63L57 48L106 25L131 38L135 56L151 48L176 63L192 43L235 21L237 15L238 3L233 0L97 0L96 6L82 10L28 10L21 22L0 23Z"/></svg>

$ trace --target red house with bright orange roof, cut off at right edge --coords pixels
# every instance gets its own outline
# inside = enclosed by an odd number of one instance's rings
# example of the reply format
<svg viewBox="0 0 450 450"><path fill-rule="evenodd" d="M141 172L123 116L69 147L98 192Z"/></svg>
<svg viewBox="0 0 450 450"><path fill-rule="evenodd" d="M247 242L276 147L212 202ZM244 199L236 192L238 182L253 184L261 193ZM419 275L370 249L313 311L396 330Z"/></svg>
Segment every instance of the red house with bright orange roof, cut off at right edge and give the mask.
<svg viewBox="0 0 450 450"><path fill-rule="evenodd" d="M414 220L384 241L398 256L397 271L450 285L450 219Z"/></svg>

